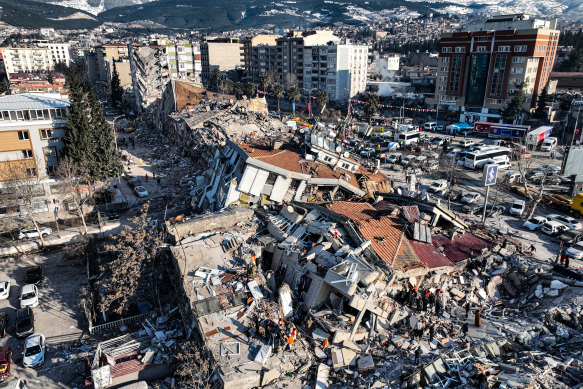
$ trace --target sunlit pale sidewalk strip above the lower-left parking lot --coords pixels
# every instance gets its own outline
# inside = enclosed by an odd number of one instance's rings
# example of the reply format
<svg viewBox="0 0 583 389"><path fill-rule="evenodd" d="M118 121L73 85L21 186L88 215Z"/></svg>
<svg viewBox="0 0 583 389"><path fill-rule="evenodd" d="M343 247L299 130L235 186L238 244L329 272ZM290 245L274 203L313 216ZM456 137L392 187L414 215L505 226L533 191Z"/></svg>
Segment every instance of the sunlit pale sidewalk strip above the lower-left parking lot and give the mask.
<svg viewBox="0 0 583 389"><path fill-rule="evenodd" d="M90 225L87 226L87 232L89 235L96 235L97 237L103 237L110 235L119 230L121 223L119 221L106 222L102 224L101 230L99 226ZM59 246L66 243L75 243L83 239L84 235L83 227L73 227L61 230L61 237L55 233L45 239L45 247ZM0 247L0 257L8 255L17 255L26 253L29 251L42 249L40 239L34 240L14 240L8 243L8 246Z"/></svg>

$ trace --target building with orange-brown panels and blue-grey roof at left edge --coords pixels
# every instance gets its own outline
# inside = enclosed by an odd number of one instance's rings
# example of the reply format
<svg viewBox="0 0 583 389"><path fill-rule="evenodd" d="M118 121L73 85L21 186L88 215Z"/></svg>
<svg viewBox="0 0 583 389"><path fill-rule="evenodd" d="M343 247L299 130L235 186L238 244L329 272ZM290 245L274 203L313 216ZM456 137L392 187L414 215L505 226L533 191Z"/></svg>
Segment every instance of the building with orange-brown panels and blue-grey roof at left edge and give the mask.
<svg viewBox="0 0 583 389"><path fill-rule="evenodd" d="M15 181L34 185L38 200L33 212L51 211L58 203L53 199L58 200L62 190L50 177L63 147L68 107L69 100L59 95L0 97L0 217L24 212Z"/></svg>

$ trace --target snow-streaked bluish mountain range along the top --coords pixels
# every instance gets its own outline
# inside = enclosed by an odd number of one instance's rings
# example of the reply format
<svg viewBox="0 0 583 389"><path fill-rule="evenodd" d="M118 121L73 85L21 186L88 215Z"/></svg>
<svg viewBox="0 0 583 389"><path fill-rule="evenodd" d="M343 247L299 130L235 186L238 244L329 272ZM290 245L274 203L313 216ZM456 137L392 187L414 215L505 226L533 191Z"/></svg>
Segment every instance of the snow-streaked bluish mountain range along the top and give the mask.
<svg viewBox="0 0 583 389"><path fill-rule="evenodd" d="M103 22L149 28L363 25L430 13L556 16L583 20L582 0L0 0L0 21L21 27L79 28Z"/></svg>

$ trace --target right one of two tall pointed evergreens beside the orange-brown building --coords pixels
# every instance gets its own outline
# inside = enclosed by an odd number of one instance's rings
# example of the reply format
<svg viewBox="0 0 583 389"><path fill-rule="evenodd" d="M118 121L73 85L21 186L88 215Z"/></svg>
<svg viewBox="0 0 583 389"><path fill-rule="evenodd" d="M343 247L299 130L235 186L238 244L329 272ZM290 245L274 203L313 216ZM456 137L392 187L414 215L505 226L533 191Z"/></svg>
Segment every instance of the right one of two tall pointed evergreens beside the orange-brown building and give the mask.
<svg viewBox="0 0 583 389"><path fill-rule="evenodd" d="M93 87L89 91L88 103L91 107L90 123L94 150L90 156L89 175L92 180L103 181L121 174L123 167L119 162L115 147L114 129L105 119L103 108Z"/></svg>

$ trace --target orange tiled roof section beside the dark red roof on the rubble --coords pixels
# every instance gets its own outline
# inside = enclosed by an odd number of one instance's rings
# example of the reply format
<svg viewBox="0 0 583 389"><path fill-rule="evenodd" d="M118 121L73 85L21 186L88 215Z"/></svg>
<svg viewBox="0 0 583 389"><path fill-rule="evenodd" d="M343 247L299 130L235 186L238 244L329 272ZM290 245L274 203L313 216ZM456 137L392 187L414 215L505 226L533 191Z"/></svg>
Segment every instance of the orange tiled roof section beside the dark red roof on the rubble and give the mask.
<svg viewBox="0 0 583 389"><path fill-rule="evenodd" d="M385 262L392 262L403 228L398 218L380 216L368 203L339 201L329 204L328 209L353 220L364 239L371 241L375 253ZM402 269L411 264L420 261L409 239L403 236L393 267Z"/></svg>

